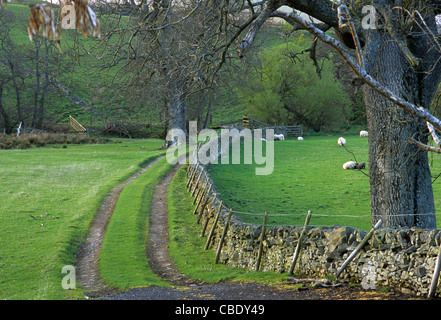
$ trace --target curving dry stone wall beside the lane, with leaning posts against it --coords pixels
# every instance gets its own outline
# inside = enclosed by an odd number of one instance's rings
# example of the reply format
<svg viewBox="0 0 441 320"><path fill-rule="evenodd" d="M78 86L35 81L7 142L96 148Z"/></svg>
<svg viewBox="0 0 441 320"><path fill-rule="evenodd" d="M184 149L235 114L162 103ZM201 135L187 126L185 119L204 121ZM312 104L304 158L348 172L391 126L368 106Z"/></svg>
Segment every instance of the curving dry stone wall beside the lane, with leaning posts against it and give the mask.
<svg viewBox="0 0 441 320"><path fill-rule="evenodd" d="M193 168L189 166L189 178ZM198 166L198 170L204 169ZM211 185L209 195L204 193L207 185ZM189 182L188 187L196 197L195 203L199 204L194 213L198 214L198 221L204 226L204 236L208 237L207 248L218 250L229 210L219 205L219 194L206 170L197 185ZM212 228L210 239L209 231ZM303 226L266 228L263 238L262 228L262 225L244 223L233 215L218 261L256 270L261 247L259 270L289 272ZM337 270L366 234L349 226L306 226L294 274L300 277L335 278ZM361 283L365 288L389 286L404 293L427 296L440 247L440 235L439 229L379 229L340 274L339 280Z"/></svg>

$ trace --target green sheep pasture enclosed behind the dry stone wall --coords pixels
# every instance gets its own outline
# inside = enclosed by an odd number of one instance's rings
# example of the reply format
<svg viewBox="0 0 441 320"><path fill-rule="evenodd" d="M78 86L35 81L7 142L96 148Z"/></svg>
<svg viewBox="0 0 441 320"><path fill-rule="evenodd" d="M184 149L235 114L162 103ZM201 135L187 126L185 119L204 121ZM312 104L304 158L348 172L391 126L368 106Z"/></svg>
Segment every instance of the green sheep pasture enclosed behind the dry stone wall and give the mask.
<svg viewBox="0 0 441 320"><path fill-rule="evenodd" d="M368 140L355 135L345 138L357 161L367 163ZM343 170L343 163L354 157L337 139L316 136L275 141L271 175L257 176L254 165L244 164L212 165L210 174L226 206L247 222L260 223L261 215L249 213L266 211L270 225L303 225L311 210L311 225L370 230L369 178L357 170ZM431 165L436 175L441 169L439 157ZM433 185L436 204L441 204L439 183Z"/></svg>

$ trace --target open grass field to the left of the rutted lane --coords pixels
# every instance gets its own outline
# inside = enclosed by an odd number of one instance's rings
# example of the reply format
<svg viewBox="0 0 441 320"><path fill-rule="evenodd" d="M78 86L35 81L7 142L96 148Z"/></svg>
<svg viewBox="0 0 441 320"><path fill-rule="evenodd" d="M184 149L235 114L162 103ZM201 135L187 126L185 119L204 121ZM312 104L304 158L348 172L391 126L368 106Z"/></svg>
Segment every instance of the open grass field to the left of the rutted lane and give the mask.
<svg viewBox="0 0 441 320"><path fill-rule="evenodd" d="M61 270L101 199L163 153L160 140L121 142L0 151L0 299L73 294Z"/></svg>

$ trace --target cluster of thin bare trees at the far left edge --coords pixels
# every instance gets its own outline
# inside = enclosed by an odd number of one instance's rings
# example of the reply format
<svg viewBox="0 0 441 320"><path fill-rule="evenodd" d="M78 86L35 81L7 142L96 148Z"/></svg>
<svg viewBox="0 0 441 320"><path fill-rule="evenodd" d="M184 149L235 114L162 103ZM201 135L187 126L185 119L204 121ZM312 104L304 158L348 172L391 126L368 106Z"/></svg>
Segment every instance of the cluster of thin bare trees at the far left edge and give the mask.
<svg viewBox="0 0 441 320"><path fill-rule="evenodd" d="M54 68L52 42L38 38L32 46L19 45L11 31L18 25L13 13L0 12L0 119L6 133L20 122L42 127Z"/></svg>

